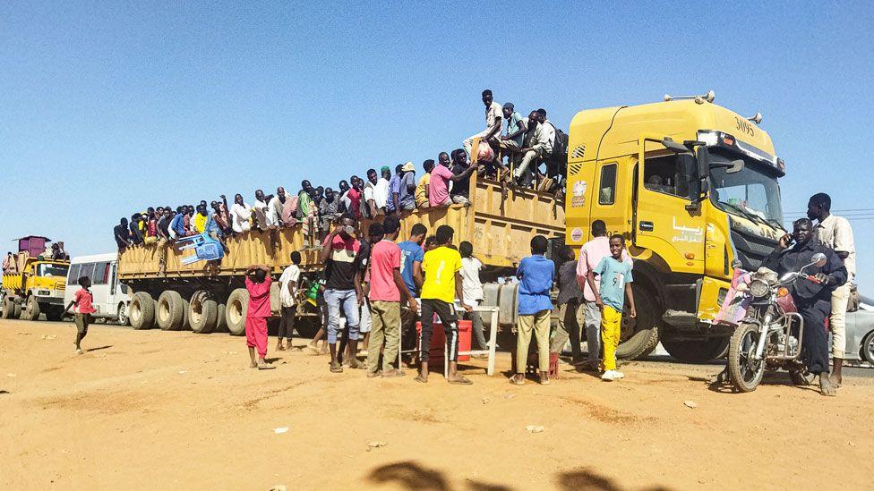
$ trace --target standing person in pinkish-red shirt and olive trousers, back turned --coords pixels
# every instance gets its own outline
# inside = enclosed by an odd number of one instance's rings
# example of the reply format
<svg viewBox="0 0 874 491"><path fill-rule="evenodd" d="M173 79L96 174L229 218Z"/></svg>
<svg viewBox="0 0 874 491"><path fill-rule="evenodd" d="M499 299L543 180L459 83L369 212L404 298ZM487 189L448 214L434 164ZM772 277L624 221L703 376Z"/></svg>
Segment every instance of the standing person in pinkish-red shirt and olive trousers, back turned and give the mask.
<svg viewBox="0 0 874 491"><path fill-rule="evenodd" d="M370 310L371 343L367 351L367 377L401 377L404 372L391 368L398 360L400 343L400 301L407 301L414 312L419 309L416 299L410 295L404 278L400 275L401 253L398 244L400 220L397 215L386 216L382 221L385 233L382 240L373 244L370 255ZM380 351L382 370L380 370Z"/></svg>

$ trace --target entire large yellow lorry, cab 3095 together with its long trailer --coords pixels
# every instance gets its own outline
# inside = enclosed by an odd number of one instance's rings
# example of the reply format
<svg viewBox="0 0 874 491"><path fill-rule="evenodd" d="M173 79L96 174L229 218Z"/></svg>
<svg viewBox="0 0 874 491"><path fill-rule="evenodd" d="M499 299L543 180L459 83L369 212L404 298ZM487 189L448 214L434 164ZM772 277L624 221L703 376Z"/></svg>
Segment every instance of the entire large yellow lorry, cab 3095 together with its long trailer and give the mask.
<svg viewBox="0 0 874 491"><path fill-rule="evenodd" d="M471 207L417 211L404 219L401 236L416 222L432 230L452 225L456 243L471 241L484 261L485 305L498 306L509 326L516 286L496 280L513 274L530 238L543 233L578 250L591 223L604 220L628 238L635 258L638 317L623 323L618 355L638 358L661 342L680 360L710 360L727 347L729 333L711 321L734 267L758 267L783 233L777 179L784 172L767 132L713 104L712 93L584 110L570 123L564 203L525 190L501 199L497 184L473 180ZM270 237L229 239L218 266L184 266L190 253L167 245L125 250L119 279L136 292L133 326L210 332L227 325L242 333L246 267L266 263L278 274L303 247L299 227ZM314 252L304 253L304 271L321 267Z"/></svg>

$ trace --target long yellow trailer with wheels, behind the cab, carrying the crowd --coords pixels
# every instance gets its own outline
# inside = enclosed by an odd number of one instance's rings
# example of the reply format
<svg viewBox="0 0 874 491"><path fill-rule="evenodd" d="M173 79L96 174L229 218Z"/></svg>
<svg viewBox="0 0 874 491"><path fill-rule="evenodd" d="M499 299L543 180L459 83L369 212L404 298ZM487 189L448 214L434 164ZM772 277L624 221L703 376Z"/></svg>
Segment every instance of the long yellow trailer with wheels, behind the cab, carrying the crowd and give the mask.
<svg viewBox="0 0 874 491"><path fill-rule="evenodd" d="M498 284L501 276L515 274L521 258L530 255L529 242L535 234L557 238L564 234L564 208L552 195L530 190L514 190L506 199L494 182L471 178L471 206L452 205L448 208L416 210L401 220L401 238L413 224L421 223L429 233L441 224L455 231L455 244L470 241L477 258L484 263L486 301L503 305L501 324L512 325L516 318L516 284ZM359 230L366 238L368 222ZM321 274L323 265L318 252L304 249L304 236L299 225L283 228L278 233L253 230L227 238L227 254L217 264L204 261L185 265L183 259L192 250L178 250L173 244L161 243L131 247L119 254L118 279L133 290L129 307L131 325L136 329L159 326L165 330L191 328L198 333L227 330L244 333L248 294L244 288L244 272L253 264L266 264L278 275L290 264L290 254L301 250L304 275ZM271 307L278 314L278 284L274 284ZM302 334L315 334L318 329L314 309L304 311L309 317L297 325ZM276 320L274 318L274 320Z"/></svg>

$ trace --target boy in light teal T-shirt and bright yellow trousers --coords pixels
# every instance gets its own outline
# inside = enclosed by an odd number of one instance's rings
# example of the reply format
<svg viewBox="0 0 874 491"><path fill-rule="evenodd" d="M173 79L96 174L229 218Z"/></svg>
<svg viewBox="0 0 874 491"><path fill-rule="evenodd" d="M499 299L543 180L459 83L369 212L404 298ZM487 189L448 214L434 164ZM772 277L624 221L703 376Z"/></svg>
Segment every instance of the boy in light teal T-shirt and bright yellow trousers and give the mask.
<svg viewBox="0 0 874 491"><path fill-rule="evenodd" d="M634 293L631 292L631 261L623 260L625 237L615 234L610 238L611 256L601 259L595 269L588 272L588 285L595 292L595 303L601 309L601 341L604 345L604 374L602 380L612 382L625 375L616 369L616 347L619 346L622 310L625 295L631 307L630 317L637 317L634 309ZM595 275L601 276L601 291L595 285Z"/></svg>

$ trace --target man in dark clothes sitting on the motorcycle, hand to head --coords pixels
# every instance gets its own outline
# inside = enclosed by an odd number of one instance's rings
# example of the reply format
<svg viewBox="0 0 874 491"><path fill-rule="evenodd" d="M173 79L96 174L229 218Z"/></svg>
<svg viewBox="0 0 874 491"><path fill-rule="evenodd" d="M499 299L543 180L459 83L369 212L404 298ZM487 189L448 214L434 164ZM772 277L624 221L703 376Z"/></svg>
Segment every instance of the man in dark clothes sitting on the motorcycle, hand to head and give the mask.
<svg viewBox="0 0 874 491"><path fill-rule="evenodd" d="M792 247L793 239L795 241ZM814 238L813 223L801 218L793 223L793 234L780 238L774 252L762 266L778 275L797 272L812 262L814 254L826 255L823 267L811 266L804 270L810 279L801 277L792 286L793 301L798 313L804 318L804 335L801 341L802 356L810 373L819 376L819 389L823 395L836 395L834 385L828 380L828 334L825 323L831 312L832 292L847 280L844 261L834 250L820 244Z"/></svg>

